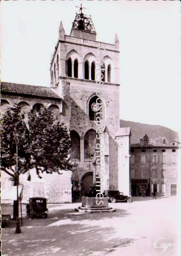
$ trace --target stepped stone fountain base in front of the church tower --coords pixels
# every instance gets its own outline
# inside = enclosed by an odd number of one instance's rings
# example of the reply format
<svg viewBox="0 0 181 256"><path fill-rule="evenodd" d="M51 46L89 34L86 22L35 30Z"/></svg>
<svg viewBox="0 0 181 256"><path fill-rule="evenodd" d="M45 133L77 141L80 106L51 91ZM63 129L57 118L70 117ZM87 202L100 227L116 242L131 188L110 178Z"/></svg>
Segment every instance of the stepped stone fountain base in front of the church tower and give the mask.
<svg viewBox="0 0 181 256"><path fill-rule="evenodd" d="M82 197L82 206L75 211L80 213L115 212L115 209L108 206L108 197Z"/></svg>

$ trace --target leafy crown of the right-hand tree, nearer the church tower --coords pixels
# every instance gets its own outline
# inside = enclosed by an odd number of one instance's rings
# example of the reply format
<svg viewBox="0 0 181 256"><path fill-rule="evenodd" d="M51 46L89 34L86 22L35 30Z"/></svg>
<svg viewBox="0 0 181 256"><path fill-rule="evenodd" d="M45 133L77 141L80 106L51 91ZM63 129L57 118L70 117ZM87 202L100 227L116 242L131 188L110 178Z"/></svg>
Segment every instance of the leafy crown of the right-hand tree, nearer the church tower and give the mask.
<svg viewBox="0 0 181 256"><path fill-rule="evenodd" d="M28 116L31 153L36 173L61 173L73 168L69 154L70 137L64 124L58 122L49 110L41 108L38 113Z"/></svg>

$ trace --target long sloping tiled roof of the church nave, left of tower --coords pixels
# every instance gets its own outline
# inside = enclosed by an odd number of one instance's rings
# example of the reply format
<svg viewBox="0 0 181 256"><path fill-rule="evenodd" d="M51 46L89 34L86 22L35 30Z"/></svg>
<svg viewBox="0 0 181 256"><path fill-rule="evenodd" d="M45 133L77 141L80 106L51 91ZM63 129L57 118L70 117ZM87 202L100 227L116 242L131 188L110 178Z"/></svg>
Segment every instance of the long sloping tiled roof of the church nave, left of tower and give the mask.
<svg viewBox="0 0 181 256"><path fill-rule="evenodd" d="M19 83L1 82L1 93L16 94L16 95L31 95L41 98L59 98L49 87L34 86Z"/></svg>

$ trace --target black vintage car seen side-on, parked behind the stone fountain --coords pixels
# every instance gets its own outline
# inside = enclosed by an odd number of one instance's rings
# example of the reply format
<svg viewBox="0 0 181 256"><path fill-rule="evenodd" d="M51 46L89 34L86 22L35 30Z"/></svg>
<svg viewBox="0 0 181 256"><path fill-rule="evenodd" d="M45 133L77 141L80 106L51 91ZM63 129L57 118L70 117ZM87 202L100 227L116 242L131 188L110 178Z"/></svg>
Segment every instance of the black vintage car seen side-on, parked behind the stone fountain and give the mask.
<svg viewBox="0 0 181 256"><path fill-rule="evenodd" d="M109 202L127 202L131 203L131 196L124 196L122 192L118 190L107 190L105 191L105 195L108 196Z"/></svg>

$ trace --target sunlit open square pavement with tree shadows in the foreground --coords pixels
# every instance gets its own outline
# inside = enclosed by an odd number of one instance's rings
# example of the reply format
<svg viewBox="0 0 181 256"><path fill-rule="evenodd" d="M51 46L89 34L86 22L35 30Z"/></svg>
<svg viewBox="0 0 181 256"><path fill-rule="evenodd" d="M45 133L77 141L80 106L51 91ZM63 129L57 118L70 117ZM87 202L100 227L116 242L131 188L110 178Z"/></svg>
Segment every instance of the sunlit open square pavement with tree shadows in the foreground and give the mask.
<svg viewBox="0 0 181 256"><path fill-rule="evenodd" d="M3 256L181 256L176 197L110 204L115 213L74 212L79 205L48 205L48 219L34 220L23 207L22 233L13 221L2 230Z"/></svg>

